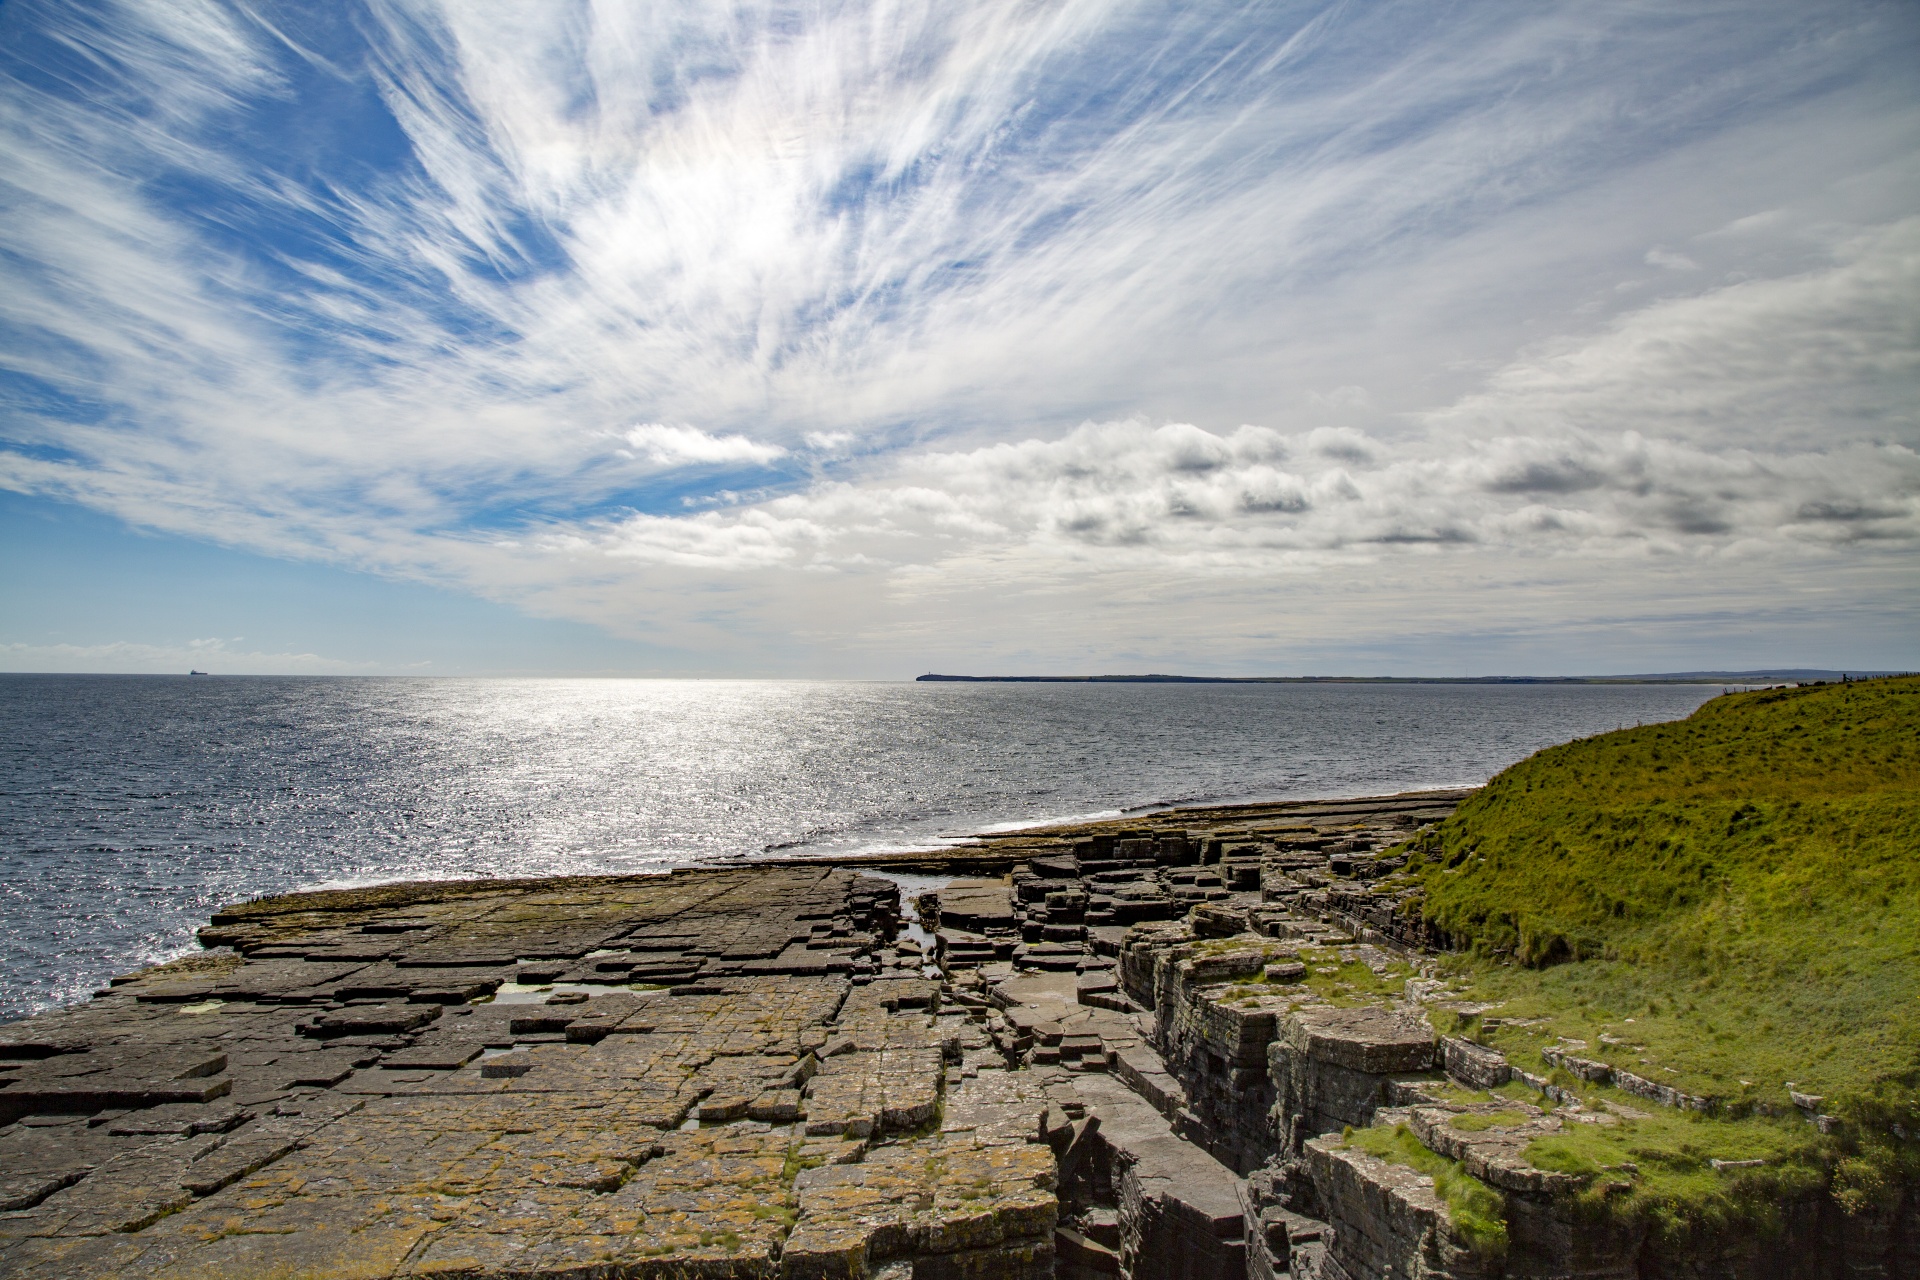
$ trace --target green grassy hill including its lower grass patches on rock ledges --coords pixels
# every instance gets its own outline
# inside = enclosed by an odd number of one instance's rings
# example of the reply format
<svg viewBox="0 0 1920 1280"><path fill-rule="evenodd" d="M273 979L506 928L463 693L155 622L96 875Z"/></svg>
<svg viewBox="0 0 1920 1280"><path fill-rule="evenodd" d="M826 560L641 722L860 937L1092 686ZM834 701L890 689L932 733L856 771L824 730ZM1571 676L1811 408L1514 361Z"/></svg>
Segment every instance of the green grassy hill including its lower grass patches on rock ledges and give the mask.
<svg viewBox="0 0 1920 1280"><path fill-rule="evenodd" d="M1388 887L1423 890L1409 906L1463 948L1444 973L1480 1009L1442 1031L1622 1117L1526 1151L1594 1188L1632 1171L1596 1213L1716 1257L1807 1196L1885 1215L1920 1182L1920 677L1553 747L1396 852ZM1555 1046L1715 1105L1588 1084Z"/></svg>

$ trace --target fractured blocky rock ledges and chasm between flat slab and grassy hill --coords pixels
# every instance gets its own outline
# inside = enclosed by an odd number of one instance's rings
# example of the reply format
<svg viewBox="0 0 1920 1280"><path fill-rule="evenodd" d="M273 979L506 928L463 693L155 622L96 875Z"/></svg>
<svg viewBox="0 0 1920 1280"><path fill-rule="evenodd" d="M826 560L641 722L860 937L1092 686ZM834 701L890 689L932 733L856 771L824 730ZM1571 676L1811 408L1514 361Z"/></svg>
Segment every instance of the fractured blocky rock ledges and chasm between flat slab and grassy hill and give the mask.
<svg viewBox="0 0 1920 1280"><path fill-rule="evenodd" d="M1436 1090L1448 1073L1473 1088L1505 1082L1498 1054L1438 1040L1394 983L1317 981L1342 965L1377 977L1411 973L1405 963L1394 969L1400 935L1373 929L1379 894L1365 892L1377 869L1369 850L1411 829L1409 816L1365 802L1313 812L1311 823L1300 821L1309 816L1304 808L1294 816L1290 825L1188 831L1179 844L1085 841L1071 856L1035 858L1014 871L1025 952L1044 940L1056 963L1054 952L1068 948L1052 942L1087 925L1075 961L1075 998L1089 1006L1083 1021L1091 1009L1117 1009L1139 1034L1089 1027L1102 1038L1110 1079L1077 1079L1079 1098L1098 1100L1087 1115L1100 1128L1071 1148L1104 1155L1064 1176L1058 1274L1634 1274L1638 1238L1576 1213L1580 1180L1524 1157L1536 1136L1563 1125L1561 1115L1521 1105L1532 1119L1509 1123L1505 1103L1478 1115ZM1327 831L1323 818L1340 827ZM1102 933L1114 906L1152 896L1177 902L1179 917L1146 915ZM1106 956L1112 969L1100 967ZM993 992L1006 1009L1006 1052L1091 1069L1069 1057L1079 1027L1039 1000L1039 979L1002 981ZM1158 1134L1127 1128L1119 1119L1127 1107L1110 1096L1119 1086L1131 1094L1131 1115L1164 1125ZM1471 1115L1455 1126L1463 1113ZM1505 1196L1507 1255L1455 1230L1430 1176L1340 1136L1375 1125L1405 1125ZM1135 1173L1158 1157L1177 1173ZM1152 1207L1144 1188L1177 1190ZM1235 1230L1229 1255L1219 1242ZM1165 1267L1175 1270L1154 1270Z"/></svg>

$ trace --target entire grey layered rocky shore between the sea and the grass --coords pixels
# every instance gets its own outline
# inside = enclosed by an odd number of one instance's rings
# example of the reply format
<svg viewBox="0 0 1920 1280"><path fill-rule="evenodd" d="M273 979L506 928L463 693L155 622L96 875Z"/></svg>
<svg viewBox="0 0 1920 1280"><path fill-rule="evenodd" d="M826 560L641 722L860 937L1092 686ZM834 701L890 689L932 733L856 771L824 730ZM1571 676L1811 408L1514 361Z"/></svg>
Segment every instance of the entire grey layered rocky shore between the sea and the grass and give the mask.
<svg viewBox="0 0 1920 1280"><path fill-rule="evenodd" d="M1665 1268L1528 1163L1619 1117L1438 1034L1430 940L1365 892L1461 794L236 904L0 1027L0 1274L1920 1274L1910 1211L1818 1205Z"/></svg>

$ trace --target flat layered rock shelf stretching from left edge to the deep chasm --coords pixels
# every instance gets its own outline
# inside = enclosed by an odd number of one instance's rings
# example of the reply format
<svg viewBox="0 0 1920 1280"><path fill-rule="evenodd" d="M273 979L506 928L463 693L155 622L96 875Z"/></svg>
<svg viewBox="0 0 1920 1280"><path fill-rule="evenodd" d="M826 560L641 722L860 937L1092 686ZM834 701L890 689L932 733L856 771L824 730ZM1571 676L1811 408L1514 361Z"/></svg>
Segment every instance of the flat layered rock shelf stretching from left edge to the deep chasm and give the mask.
<svg viewBox="0 0 1920 1280"><path fill-rule="evenodd" d="M1244 1276L1246 1180L1114 973L1258 864L1165 831L877 860L960 875L925 950L885 865L234 904L0 1029L0 1272Z"/></svg>

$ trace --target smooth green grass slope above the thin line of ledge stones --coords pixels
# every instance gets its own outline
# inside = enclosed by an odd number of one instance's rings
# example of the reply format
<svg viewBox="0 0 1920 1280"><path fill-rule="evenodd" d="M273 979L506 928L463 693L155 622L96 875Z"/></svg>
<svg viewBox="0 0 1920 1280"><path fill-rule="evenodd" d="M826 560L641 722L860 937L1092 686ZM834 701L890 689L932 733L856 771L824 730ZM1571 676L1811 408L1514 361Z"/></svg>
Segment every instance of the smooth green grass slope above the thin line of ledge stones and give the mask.
<svg viewBox="0 0 1920 1280"><path fill-rule="evenodd" d="M1920 1119L1920 677L1553 747L1407 873L1511 1054L1574 1036L1693 1094Z"/></svg>

